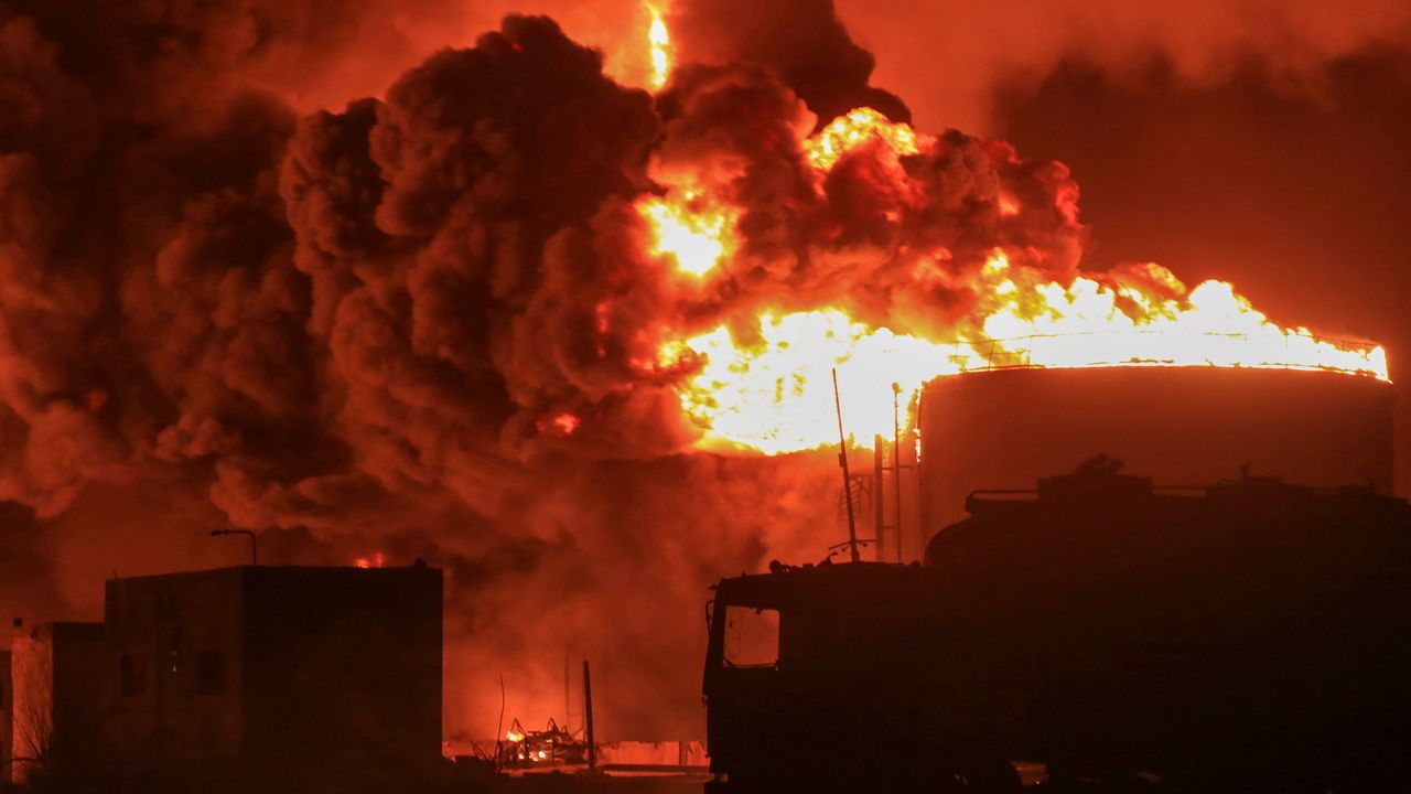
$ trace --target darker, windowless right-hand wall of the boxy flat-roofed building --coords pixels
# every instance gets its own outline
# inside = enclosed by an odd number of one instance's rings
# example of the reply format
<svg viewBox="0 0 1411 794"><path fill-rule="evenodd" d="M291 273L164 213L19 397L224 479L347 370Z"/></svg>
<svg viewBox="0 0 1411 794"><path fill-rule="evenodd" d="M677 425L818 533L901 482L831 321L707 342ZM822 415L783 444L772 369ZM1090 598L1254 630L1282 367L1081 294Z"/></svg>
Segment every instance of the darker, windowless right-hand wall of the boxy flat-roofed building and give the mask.
<svg viewBox="0 0 1411 794"><path fill-rule="evenodd" d="M248 747L351 764L440 754L442 575L246 568Z"/></svg>

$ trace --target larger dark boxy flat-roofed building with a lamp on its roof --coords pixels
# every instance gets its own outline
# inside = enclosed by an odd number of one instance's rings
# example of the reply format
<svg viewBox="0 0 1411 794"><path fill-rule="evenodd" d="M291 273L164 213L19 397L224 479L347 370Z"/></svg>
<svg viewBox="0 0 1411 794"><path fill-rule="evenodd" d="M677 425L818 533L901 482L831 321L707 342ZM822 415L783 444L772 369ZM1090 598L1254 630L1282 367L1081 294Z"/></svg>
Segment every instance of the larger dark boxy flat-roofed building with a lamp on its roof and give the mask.
<svg viewBox="0 0 1411 794"><path fill-rule="evenodd" d="M442 574L238 567L107 582L107 747L154 766L430 764Z"/></svg>

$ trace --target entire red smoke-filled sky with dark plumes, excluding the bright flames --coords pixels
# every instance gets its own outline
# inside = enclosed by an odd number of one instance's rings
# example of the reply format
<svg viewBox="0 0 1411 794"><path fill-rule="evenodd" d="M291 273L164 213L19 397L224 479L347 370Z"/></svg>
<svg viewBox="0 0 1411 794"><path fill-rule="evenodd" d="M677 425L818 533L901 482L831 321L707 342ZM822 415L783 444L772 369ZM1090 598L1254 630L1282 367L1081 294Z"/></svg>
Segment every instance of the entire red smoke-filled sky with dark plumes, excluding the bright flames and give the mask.
<svg viewBox="0 0 1411 794"><path fill-rule="evenodd" d="M1404 3L667 20L682 68L655 100L626 0L0 0L0 608L96 617L109 575L238 561L217 526L261 530L271 561L423 557L449 576L449 732L494 729L498 674L511 715L557 715L573 647L610 737L698 735L706 585L821 557L835 475L686 452L634 333L852 287L844 260L885 278L883 253L935 242L873 218L862 168L800 198L797 130L858 105L978 136L920 179L957 268L1017 240L1053 273L1154 260L1384 342L1411 379ZM957 209L1000 185L1058 206L1050 160L1081 223ZM738 168L751 270L689 302L641 277L628 203L721 179L700 162ZM594 349L605 326L632 333Z"/></svg>

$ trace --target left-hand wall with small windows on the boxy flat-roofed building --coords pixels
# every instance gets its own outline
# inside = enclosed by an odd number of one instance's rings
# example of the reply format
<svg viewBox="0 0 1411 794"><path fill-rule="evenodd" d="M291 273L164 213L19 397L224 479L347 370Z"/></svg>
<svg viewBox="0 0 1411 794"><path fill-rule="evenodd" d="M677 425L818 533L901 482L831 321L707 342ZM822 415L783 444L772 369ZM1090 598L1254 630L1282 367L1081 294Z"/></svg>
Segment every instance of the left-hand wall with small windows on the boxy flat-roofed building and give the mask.
<svg viewBox="0 0 1411 794"><path fill-rule="evenodd" d="M107 582L109 746L133 759L236 756L240 569Z"/></svg>

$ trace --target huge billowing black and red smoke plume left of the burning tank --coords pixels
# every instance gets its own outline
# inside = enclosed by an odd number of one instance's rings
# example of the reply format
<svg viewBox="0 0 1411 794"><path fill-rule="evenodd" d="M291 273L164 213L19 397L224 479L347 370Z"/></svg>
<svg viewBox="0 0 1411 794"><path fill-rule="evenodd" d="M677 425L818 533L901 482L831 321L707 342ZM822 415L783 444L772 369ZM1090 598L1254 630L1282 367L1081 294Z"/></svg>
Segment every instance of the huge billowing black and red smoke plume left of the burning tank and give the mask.
<svg viewBox="0 0 1411 794"><path fill-rule="evenodd" d="M497 674L562 716L573 647L608 736L696 735L706 585L821 557L837 473L693 452L662 342L820 305L944 336L996 246L1079 268L1077 186L958 131L820 178L809 133L907 117L824 0L672 4L659 96L543 17L420 59L439 10L0 0L0 605L240 559L212 526L420 557L452 730L494 728ZM738 213L706 287L648 250L638 202L682 185Z"/></svg>

